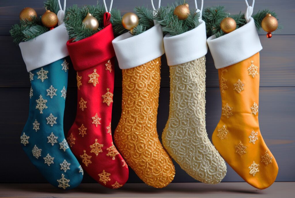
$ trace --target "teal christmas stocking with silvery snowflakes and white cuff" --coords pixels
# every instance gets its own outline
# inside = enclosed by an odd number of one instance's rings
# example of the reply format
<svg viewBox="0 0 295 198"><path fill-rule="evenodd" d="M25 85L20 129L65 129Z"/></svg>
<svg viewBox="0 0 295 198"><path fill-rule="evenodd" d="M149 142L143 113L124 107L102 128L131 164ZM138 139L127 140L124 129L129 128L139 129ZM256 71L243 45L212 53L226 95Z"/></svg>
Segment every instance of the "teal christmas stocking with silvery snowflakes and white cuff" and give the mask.
<svg viewBox="0 0 295 198"><path fill-rule="evenodd" d="M61 24L19 44L32 85L29 118L20 137L22 147L47 181L62 189L77 187L83 178L83 169L63 132L68 38Z"/></svg>

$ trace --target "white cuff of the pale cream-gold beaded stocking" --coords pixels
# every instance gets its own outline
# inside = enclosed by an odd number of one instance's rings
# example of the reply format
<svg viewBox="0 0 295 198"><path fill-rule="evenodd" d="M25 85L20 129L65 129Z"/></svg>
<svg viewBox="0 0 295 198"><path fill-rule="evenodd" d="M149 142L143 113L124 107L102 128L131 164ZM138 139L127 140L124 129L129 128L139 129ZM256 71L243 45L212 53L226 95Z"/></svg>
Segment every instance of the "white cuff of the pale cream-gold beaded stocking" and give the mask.
<svg viewBox="0 0 295 198"><path fill-rule="evenodd" d="M206 25L199 26L176 36L165 35L164 48L169 66L183 64L205 56L208 51Z"/></svg>

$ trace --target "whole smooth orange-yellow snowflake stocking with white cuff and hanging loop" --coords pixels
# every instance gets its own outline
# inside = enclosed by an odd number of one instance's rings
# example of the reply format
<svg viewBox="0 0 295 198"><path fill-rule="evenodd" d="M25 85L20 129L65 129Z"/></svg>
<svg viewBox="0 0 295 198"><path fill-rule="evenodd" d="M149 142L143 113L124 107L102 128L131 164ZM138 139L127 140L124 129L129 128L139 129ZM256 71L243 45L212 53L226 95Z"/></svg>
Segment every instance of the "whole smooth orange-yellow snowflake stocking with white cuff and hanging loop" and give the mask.
<svg viewBox="0 0 295 198"><path fill-rule="evenodd" d="M225 161L249 184L269 187L278 165L258 123L259 51L262 49L248 7L247 24L207 42L219 73L222 114L212 141Z"/></svg>

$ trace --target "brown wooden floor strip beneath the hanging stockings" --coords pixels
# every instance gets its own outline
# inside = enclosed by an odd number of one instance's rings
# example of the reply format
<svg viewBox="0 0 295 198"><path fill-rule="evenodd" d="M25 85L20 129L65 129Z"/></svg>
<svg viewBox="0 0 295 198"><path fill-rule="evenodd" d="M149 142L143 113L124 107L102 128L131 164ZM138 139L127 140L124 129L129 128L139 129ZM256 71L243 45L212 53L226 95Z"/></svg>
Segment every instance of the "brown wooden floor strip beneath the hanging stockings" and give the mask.
<svg viewBox="0 0 295 198"><path fill-rule="evenodd" d="M99 184L81 184L73 190L60 190L50 184L0 184L0 197L62 198L62 197L295 197L295 182L276 182L268 189L258 190L245 182L172 183L163 189L145 184L125 184L120 189L107 189Z"/></svg>

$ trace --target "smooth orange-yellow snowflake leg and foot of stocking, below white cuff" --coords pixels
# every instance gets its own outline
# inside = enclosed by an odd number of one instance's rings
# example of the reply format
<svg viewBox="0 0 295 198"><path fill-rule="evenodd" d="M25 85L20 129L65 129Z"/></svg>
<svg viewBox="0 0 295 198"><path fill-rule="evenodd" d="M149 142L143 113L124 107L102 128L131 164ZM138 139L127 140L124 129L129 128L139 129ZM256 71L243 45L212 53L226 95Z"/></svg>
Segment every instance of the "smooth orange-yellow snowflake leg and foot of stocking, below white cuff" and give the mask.
<svg viewBox="0 0 295 198"><path fill-rule="evenodd" d="M259 52L218 73L222 114L212 142L246 182L265 189L275 181L278 164L259 129Z"/></svg>

